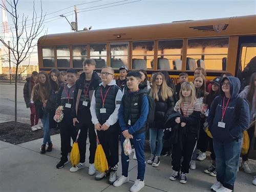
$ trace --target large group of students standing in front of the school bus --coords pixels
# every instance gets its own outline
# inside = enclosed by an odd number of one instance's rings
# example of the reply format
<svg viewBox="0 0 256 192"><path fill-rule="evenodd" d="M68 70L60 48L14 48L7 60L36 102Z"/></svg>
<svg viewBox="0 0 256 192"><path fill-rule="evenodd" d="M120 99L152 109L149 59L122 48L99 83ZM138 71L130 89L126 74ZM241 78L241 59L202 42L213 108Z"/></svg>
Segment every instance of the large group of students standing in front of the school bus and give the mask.
<svg viewBox="0 0 256 192"><path fill-rule="evenodd" d="M62 168L68 163L71 138L75 141L79 129L80 161L70 168L70 172L85 167L89 132L89 175L96 173L94 157L98 140L108 160L109 171L97 173L95 179L101 180L109 176L110 184L121 186L129 181L129 156L124 154L123 142L130 139L138 162L138 175L131 191L139 191L144 187L144 142L147 117L152 104L149 98L152 98L155 101L155 117L154 123L148 127L151 157L147 163L159 166L161 152L172 148L173 174L169 179L180 178L181 183L186 183L189 169L196 168L195 160L206 158L209 143L212 165L204 172L217 176L217 182L211 189L218 192L233 190L242 132L248 129L249 121L255 119L256 73L252 74L250 85L239 97L240 81L231 74L224 74L223 77L207 82L205 70L197 68L193 82L188 82L187 73L181 73L180 83L175 86L166 71L154 73L150 83L144 70L128 72L123 66L119 69L120 78L114 80L112 68L104 67L97 74L95 66L93 59L84 60L84 73L78 78L77 71L69 69L66 81L62 80L56 69L52 69L49 76L45 72L39 72L38 83L32 88L30 104L27 106L35 106L36 116L44 126L44 140L40 151L42 154L52 151L50 129L57 126L53 116L60 115L61 110L57 106L63 106L63 120L58 123L61 158L56 168ZM247 101L241 98L246 98ZM27 103L28 99L25 101ZM170 125L167 129L170 134L164 129L166 120ZM206 127L209 127L213 139L205 133ZM250 138L253 134L256 136L254 125L249 128L248 133ZM117 178L119 140L122 175ZM248 166L247 160L248 154L243 156L243 167ZM256 181L253 182L256 184Z"/></svg>

